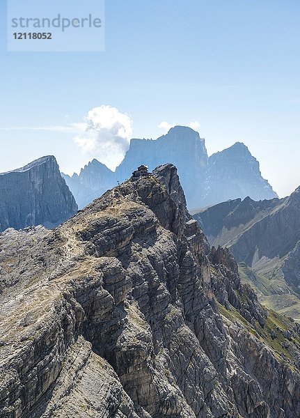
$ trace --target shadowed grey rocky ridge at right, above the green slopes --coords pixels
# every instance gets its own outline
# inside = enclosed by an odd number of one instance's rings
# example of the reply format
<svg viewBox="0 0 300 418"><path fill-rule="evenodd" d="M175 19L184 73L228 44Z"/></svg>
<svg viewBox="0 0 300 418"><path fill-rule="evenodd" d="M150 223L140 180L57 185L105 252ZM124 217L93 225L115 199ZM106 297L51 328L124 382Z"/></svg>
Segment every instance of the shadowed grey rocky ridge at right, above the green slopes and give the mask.
<svg viewBox="0 0 300 418"><path fill-rule="evenodd" d="M226 245L237 261L283 258L300 240L300 187L285 199L227 201L194 215L212 245Z"/></svg>

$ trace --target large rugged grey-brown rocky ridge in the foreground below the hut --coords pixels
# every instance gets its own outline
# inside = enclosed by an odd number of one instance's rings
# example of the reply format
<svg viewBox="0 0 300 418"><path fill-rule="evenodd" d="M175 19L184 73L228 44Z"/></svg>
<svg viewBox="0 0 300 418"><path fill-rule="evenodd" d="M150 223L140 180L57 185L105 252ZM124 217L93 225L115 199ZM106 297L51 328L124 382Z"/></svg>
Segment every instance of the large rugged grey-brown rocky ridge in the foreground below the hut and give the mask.
<svg viewBox="0 0 300 418"><path fill-rule="evenodd" d="M8 229L0 267L0 417L300 415L297 325L210 250L170 164Z"/></svg>

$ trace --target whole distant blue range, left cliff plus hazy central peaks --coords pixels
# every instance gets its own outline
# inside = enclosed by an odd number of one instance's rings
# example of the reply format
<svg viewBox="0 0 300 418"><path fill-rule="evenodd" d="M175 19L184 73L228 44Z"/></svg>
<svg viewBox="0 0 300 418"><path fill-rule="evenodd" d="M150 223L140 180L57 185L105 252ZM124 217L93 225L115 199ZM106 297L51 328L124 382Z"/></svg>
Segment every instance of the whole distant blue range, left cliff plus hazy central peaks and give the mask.
<svg viewBox="0 0 300 418"><path fill-rule="evenodd" d="M116 172L93 160L79 176L60 173L53 156L42 157L21 169L0 174L0 231L42 224L53 228L106 190L132 176L141 164L149 170L172 163L177 167L189 208L203 208L223 200L251 196L276 197L262 178L259 163L244 144L208 157L205 141L189 127L173 127L156 141L132 139ZM75 201L76 200L76 201Z"/></svg>

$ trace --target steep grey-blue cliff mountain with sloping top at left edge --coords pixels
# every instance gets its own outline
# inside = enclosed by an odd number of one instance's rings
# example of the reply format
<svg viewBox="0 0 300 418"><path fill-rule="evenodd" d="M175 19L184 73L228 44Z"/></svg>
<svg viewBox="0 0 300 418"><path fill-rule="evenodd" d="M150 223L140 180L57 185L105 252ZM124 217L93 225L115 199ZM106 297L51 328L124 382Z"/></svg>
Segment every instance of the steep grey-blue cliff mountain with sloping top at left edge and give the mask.
<svg viewBox="0 0 300 418"><path fill-rule="evenodd" d="M53 228L77 212L54 157L0 173L0 231L42 224Z"/></svg>

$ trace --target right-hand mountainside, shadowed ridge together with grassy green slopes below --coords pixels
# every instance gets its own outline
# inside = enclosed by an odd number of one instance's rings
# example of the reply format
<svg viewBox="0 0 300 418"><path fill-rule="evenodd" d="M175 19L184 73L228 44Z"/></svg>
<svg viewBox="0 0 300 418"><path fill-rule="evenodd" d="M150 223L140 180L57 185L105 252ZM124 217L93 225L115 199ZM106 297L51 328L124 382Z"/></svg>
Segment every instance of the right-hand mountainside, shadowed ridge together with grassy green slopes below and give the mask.
<svg viewBox="0 0 300 418"><path fill-rule="evenodd" d="M219 203L194 218L211 245L232 251L261 302L300 320L300 187L284 199Z"/></svg>

